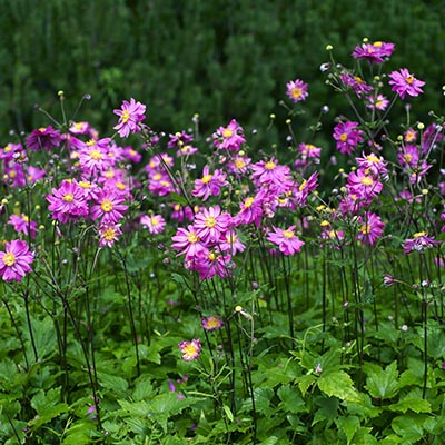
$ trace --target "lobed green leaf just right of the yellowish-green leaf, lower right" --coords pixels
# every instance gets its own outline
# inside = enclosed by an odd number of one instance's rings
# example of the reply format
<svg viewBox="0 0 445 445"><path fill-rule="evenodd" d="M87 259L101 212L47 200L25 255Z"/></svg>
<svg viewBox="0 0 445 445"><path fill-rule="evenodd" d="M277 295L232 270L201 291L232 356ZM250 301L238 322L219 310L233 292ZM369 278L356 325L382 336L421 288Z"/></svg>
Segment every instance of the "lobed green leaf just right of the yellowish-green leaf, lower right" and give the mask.
<svg viewBox="0 0 445 445"><path fill-rule="evenodd" d="M394 397L398 392L397 362L382 369L377 365L365 365L367 374L365 388L374 398L385 399Z"/></svg>

